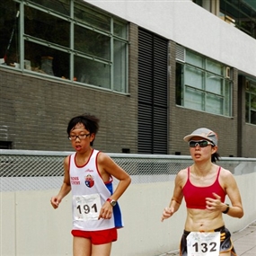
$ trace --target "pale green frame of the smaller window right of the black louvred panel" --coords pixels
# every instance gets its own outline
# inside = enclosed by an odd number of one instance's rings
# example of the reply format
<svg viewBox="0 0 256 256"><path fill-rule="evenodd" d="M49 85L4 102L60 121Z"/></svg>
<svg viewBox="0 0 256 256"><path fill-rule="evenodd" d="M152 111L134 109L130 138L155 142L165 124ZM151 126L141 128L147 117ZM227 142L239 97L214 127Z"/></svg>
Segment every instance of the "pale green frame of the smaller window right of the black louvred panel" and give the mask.
<svg viewBox="0 0 256 256"><path fill-rule="evenodd" d="M181 52L181 46L179 46L178 50ZM232 117L233 83L231 79L232 77L228 77L226 74L227 66L209 57L202 56L192 50L188 50L188 49L183 49L183 50L184 50L184 55L182 59L177 57L178 55L176 55L176 65L177 64L180 65L180 71L179 71L180 73L179 72L176 73L176 105L182 106L184 108L192 109L192 110L204 111L204 112L215 114L215 115ZM190 57L190 59L187 58L188 54L189 55L192 54L195 57L198 57L197 59L201 59L202 62L200 63L199 61L196 61L192 63L192 61L190 61L192 60L192 57ZM210 68L207 68L207 62L210 62L213 64L215 63L216 66L220 66L219 72L214 72L213 70L210 70ZM192 82L188 81L189 79L191 80L191 75L190 75L190 78L188 79L188 72L186 72L188 68L190 70L194 70L195 72L198 72L201 74L200 77L198 77L201 80L201 84L198 81L196 81L194 82L198 84L196 86L191 84ZM212 78L216 78L221 82L219 93L216 93L213 90L207 89L207 77L209 76L212 76ZM180 91L180 93L177 93L178 91ZM192 93L188 93L189 91L190 92L194 91L195 94L193 95ZM197 94L198 95L201 94L200 102L196 102L195 100L191 99L191 97L196 97ZM218 111L210 111L211 108L208 108L207 110L208 97L211 97L212 99L216 99L216 101L222 100L222 103L220 102L219 104ZM188 102L191 102L191 103L188 104Z"/></svg>

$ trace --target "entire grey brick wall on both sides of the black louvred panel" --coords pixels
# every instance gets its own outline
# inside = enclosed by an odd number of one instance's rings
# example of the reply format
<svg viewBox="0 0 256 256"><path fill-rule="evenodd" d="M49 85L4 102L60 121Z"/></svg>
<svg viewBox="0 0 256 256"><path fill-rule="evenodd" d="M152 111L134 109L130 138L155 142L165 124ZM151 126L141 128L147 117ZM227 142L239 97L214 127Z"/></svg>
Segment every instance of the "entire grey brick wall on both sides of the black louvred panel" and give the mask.
<svg viewBox="0 0 256 256"><path fill-rule="evenodd" d="M0 141L12 141L13 149L69 151L72 148L67 140L67 122L75 115L90 112L101 119L95 148L109 153L122 153L125 148L137 154L137 30L137 25L130 23L128 95L0 67ZM182 138L196 128L206 127L218 134L221 156L255 157L256 127L245 123L243 96L238 101L237 70L233 117L176 106L175 45L170 41L168 55L169 154L190 154ZM237 143L238 137L242 145Z"/></svg>

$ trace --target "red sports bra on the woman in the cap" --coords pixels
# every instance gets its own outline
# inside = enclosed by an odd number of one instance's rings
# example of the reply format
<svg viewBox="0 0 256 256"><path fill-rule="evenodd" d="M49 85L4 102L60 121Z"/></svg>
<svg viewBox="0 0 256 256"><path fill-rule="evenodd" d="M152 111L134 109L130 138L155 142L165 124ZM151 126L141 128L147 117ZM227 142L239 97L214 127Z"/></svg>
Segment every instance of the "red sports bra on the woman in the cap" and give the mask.
<svg viewBox="0 0 256 256"><path fill-rule="evenodd" d="M190 167L188 168L188 180L183 187L183 195L188 208L206 209L206 198L215 199L212 193L216 193L221 197L221 201L225 202L225 190L218 182L221 167L219 167L216 181L207 187L197 187L190 182Z"/></svg>

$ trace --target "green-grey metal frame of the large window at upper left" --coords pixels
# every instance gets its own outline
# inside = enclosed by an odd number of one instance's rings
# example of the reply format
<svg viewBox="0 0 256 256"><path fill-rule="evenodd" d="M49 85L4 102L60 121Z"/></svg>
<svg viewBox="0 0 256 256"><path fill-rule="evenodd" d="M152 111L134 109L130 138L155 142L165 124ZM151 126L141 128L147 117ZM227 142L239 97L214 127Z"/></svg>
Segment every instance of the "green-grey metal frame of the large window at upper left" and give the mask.
<svg viewBox="0 0 256 256"><path fill-rule="evenodd" d="M71 0L70 1L70 13L69 15L65 15L63 13L57 13L56 10L53 9L48 9L40 4L35 4L33 1L19 1L19 3L15 0L13 0L13 3L16 4L20 4L20 15L17 18L19 21L19 31L18 32L18 38L19 38L19 48L16 49L16 51L19 54L19 66L16 66L15 69L16 70L21 70L23 73L27 73L27 74L32 74L32 75L46 75L52 79L57 79L57 80L61 80L63 81L63 77L55 76L55 75L47 75L47 74L39 74L37 72L34 72L33 70L31 70L30 68L26 68L25 66L25 60L26 60L26 52L25 52L25 45L29 42L29 43L34 43L37 45L38 47L38 51L40 51L41 48L49 48L52 51L55 51L56 53L58 52L62 52L63 54L66 53L67 55L67 59L69 61L69 63L67 64L67 66L69 65L69 74L68 74L68 78L66 79L65 77L65 81L71 84L79 84L79 85L86 85L89 87L93 87L93 88L98 88L98 89L102 89L102 90L107 90L107 91L111 91L113 93L122 93L122 94L128 94L128 22L124 21L118 17L115 17L113 15L111 15L110 13L105 13L103 11L98 10L96 7L91 6L90 4L86 4L86 3L81 3L78 1L74 1ZM93 10L94 13L99 13L99 15L103 15L105 17L108 17L109 21L110 21L110 31L102 31L101 28L99 27L93 27L92 25L88 24L88 22L83 22L83 21L77 21L75 19L75 3L78 4L83 4L84 8L87 10ZM24 13L25 13L25 7L28 6L28 8L32 8L34 10L36 10L37 12L43 12L43 13L47 13L49 15L54 16L57 19L61 19L65 22L69 23L69 45L66 47L64 45L60 45L45 39L40 39L37 37L34 37L32 34L25 34L25 22L24 22ZM88 30L88 31L93 31L95 33L97 33L98 35L103 35L105 38L109 37L109 41L110 41L110 46L108 47L108 49L110 49L110 58L109 59L103 59L102 57L97 57L97 56L92 56L90 54L87 54L86 52L81 52L79 50L75 49L75 26L80 26L81 28L83 27L84 30ZM123 30L123 31L118 31L118 29ZM114 45L115 44L115 45ZM122 50L122 52L119 52L119 56L121 57L122 60L119 59L119 61L121 61L122 65L122 74L115 74L115 73L119 73L119 72L115 72L115 46L119 44L122 47L119 47L119 49ZM108 72L109 75L106 76L108 79L108 84L109 86L99 86L97 84L86 84L85 82L79 82L77 81L75 78L75 57L83 57L84 60L86 61L86 59L90 60L91 63L98 63L99 65L104 65L104 66L109 66L110 67L110 71ZM90 64L88 64L90 65ZM119 66L119 64L117 64L117 66ZM6 68L12 68L13 66L3 66ZM68 68L68 67L67 67ZM100 69L101 71L101 69ZM99 71L99 72L100 72ZM102 72L100 72L100 74L102 74ZM117 78L116 76L119 75L119 77ZM102 76L103 78L104 76ZM102 80L103 84L105 84L104 81L106 80ZM118 82L117 82L118 81Z"/></svg>

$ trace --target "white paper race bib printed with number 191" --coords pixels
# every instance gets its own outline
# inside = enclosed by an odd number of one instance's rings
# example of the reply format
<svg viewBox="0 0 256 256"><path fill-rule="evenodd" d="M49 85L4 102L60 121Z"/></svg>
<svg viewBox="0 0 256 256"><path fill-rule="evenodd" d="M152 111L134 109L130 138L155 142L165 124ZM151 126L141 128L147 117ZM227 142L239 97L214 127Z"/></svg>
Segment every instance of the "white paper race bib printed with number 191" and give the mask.
<svg viewBox="0 0 256 256"><path fill-rule="evenodd" d="M100 194L74 196L74 214L76 220L98 219L102 208Z"/></svg>

